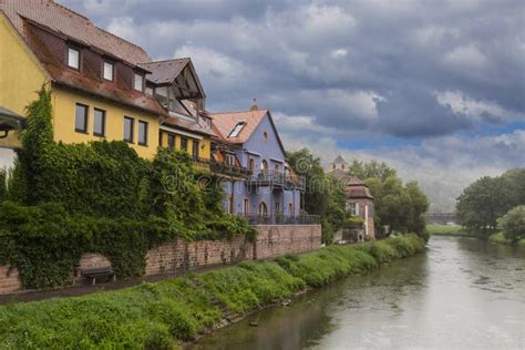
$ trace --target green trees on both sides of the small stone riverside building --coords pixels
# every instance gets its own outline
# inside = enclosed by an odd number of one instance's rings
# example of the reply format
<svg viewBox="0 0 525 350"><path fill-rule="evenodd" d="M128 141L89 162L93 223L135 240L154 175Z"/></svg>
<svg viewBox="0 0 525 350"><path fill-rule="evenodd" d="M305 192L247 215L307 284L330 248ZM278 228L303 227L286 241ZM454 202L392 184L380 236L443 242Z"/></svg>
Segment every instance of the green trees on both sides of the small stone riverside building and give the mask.
<svg viewBox="0 0 525 350"><path fill-rule="evenodd" d="M305 209L308 214L320 215L323 240L331 243L333 233L350 219L344 187L325 172L320 158L308 148L288 153L288 163L298 175L306 177ZM429 199L416 182L403 184L394 168L377 161L353 161L348 175L363 181L370 188L374 198L377 236L394 231L426 236L424 214Z"/></svg>

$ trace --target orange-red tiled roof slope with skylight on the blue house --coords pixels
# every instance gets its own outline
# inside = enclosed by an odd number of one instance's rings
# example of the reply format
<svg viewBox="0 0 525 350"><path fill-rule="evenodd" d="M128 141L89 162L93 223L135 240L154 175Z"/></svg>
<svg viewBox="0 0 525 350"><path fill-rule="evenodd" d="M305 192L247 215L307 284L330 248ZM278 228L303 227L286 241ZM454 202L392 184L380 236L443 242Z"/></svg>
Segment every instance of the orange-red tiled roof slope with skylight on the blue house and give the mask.
<svg viewBox="0 0 525 350"><path fill-rule="evenodd" d="M219 136L219 138L229 143L240 144L248 141L251 133L260 124L266 114L268 114L268 110L250 110L241 112L209 113L209 116L213 119L214 132ZM246 122L240 133L237 137L228 137L231 130L239 122Z"/></svg>

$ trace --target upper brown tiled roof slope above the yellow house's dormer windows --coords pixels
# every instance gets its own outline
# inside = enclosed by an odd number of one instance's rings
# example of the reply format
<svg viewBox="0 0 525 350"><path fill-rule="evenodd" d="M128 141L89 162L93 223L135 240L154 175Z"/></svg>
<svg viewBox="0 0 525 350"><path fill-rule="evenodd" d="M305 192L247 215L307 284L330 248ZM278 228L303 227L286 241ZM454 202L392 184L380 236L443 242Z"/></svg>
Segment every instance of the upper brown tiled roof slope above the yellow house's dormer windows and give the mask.
<svg viewBox="0 0 525 350"><path fill-rule="evenodd" d="M141 47L100 29L87 18L52 0L0 0L0 11L7 14L23 39L27 39L23 28L25 18L132 64L151 61Z"/></svg>

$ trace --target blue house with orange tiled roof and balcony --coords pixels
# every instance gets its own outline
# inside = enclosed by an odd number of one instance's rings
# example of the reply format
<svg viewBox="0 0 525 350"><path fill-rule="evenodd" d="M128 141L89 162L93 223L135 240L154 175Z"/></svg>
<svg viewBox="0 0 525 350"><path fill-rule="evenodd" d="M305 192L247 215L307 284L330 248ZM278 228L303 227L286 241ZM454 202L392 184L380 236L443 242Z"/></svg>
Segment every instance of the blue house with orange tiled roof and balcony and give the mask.
<svg viewBox="0 0 525 350"><path fill-rule="evenodd" d="M297 222L305 183L286 163L285 148L268 110L210 113L216 134L213 157L248 169L223 183L224 207L264 223Z"/></svg>

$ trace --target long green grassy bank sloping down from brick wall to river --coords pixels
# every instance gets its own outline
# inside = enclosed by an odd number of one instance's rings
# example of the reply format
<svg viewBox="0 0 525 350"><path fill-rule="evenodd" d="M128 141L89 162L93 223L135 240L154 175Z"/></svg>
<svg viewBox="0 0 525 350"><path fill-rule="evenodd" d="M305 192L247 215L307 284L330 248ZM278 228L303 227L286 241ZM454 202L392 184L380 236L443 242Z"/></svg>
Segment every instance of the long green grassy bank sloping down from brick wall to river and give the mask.
<svg viewBox="0 0 525 350"><path fill-rule="evenodd" d="M424 250L415 235L246 261L185 278L68 299L0 307L0 349L171 349L217 325L210 300L245 313Z"/></svg>

